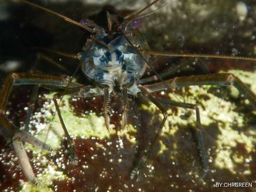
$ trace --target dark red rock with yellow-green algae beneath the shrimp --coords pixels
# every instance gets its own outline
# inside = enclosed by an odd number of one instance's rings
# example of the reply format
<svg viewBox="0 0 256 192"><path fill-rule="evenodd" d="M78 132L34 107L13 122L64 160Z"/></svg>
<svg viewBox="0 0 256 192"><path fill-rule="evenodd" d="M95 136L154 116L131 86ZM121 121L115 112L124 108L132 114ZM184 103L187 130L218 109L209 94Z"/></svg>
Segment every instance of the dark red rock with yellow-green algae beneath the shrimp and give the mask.
<svg viewBox="0 0 256 192"><path fill-rule="evenodd" d="M241 79L254 75L238 70L229 72ZM244 81L249 83L246 79ZM38 186L21 182L21 188L23 191L86 191L106 188L114 191L149 191L152 187L159 186L159 191L169 188L179 191L200 188L210 190L215 182L234 179L239 181L239 178L253 182L255 130L247 123L247 112L243 112L245 109L237 106L238 101L230 100L229 88L226 87L227 94L223 98L218 96L225 89L217 86L189 86L175 91L175 96L173 93L168 94L172 100L194 103L199 108L210 167L204 181L199 179L202 165L195 143L195 110L177 107L168 110L169 117L162 136L143 169L141 180L135 181L129 179L133 163L147 149L163 118L153 103L143 102L140 105L140 101L130 101L129 125L122 129L118 113L113 112L108 132L99 112L101 102L97 105L98 109L94 106L89 110L85 109L85 113L77 113L79 109L75 108L79 107L78 104L83 106L83 103L93 105L90 103L95 100L98 102L100 98L65 96L60 104L60 111L67 130L74 139L78 156L78 165L74 165L68 159L68 147L66 141L63 141L58 116L53 117L55 107L50 99L53 93L44 95L47 100L33 116L32 126L35 131L31 133L52 146L55 154L45 154L27 145L33 151L31 161L36 169ZM243 102L244 98L240 100ZM114 97L113 101L117 102L117 98ZM248 107L250 105L244 106ZM135 111L137 112L134 113ZM45 118L44 123L42 118Z"/></svg>

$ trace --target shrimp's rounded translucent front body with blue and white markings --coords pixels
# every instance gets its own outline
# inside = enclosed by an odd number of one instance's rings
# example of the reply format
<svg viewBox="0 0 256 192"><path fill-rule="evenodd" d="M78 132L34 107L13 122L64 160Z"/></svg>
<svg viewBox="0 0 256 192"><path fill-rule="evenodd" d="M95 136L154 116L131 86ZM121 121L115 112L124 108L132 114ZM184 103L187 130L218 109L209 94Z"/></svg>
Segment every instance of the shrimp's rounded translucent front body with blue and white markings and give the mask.
<svg viewBox="0 0 256 192"><path fill-rule="evenodd" d="M146 69L146 62L121 34L104 45L94 42L90 51L78 53L84 74L100 85L108 85L109 93L114 89L129 87L129 94L140 92L135 81Z"/></svg>

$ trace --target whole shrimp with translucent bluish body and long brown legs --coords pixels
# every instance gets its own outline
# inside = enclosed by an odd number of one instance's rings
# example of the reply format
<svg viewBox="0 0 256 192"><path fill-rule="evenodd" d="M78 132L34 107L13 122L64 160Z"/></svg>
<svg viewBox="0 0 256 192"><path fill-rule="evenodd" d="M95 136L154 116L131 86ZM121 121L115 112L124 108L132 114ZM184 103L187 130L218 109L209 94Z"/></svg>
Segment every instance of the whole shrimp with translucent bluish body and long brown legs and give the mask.
<svg viewBox="0 0 256 192"><path fill-rule="evenodd" d="M141 13L147 10L148 7L151 5L155 5L158 1L154 1L153 3L147 5L141 11L130 15L127 18L118 17L117 14L110 13L110 11L106 12L106 21L107 27L99 26L97 22L94 22L90 19L82 19L81 21L74 21L69 19L57 12L51 11L46 9L42 6L27 2L22 0L23 3L30 4L34 7L42 9L46 12L50 12L58 17L64 19L65 21L76 25L83 30L90 33L90 37L87 38L86 44L83 46L83 49L78 54L70 54L64 53L60 51L55 51L46 48L39 48L39 50L44 52L52 52L64 57L73 58L80 61L80 64L76 68L82 69L82 73L84 76L91 82L90 85L77 83L71 81L71 78L76 75L72 75L70 79L63 79L61 77L55 77L50 75L42 75L42 74L11 74L5 79L2 91L1 91L1 131L5 135L6 138L9 138L13 142L14 150L16 151L17 155L19 156L21 166L23 167L22 170L27 175L27 179L34 181L35 175L33 170L27 169L26 167L31 167L29 165L28 157L26 156L26 152L24 153L25 149L23 149L22 141L30 142L32 145L37 146L38 148L44 148L46 150L52 150L49 146L47 146L44 142L40 142L38 139L33 137L32 135L28 135L27 132L21 131L16 127L12 126L12 124L7 120L5 117L6 113L6 103L8 95L11 92L12 85L25 85L25 84L32 84L32 85L40 85L46 89L57 91L58 93L54 94L53 96L53 105L56 108L57 116L60 121L60 125L65 132L65 136L67 138L67 145L68 145L68 158L65 157L66 161L69 162L69 169L67 172L70 171L72 167L74 168L74 172L82 172L84 174L86 172L86 163L89 162L89 159L86 157L84 158L81 155L81 152L77 153L77 143L82 142L81 140L77 139L74 141L72 137L69 135L69 131L66 127L67 119L62 117L62 108L60 104L60 100L65 98L66 94L77 94L83 98L95 98L100 95L103 96L103 103L102 103L102 116L103 116L103 124L106 126L107 133L111 133L111 114L110 111L110 95L119 95L121 98L119 102L121 103L121 114L120 120L122 121L121 126L124 130L127 128L131 128L129 125L129 95L132 97L140 98L142 100L150 101L154 103L157 107L151 107L150 110L157 111L160 110L162 113L161 120L158 122L156 127L154 127L157 131L154 137L151 137L150 144L146 149L146 153L141 153L140 158L138 158L134 165L132 163L127 163L131 168L129 178L131 180L135 179L138 182L143 182L140 180L143 174L143 170L145 167L148 167L148 174L150 175L150 170L154 170L154 166L148 166L148 159L150 158L151 154L154 153L154 148L159 141L159 136L161 135L162 129L166 124L167 118L169 118L169 113L167 108L169 106L174 107L182 107L186 108L186 110L191 109L195 113L195 136L197 140L197 148L199 154L199 162L201 162L201 171L197 171L197 176L195 178L200 178L203 180L207 177L207 172L209 172L209 157L207 155L207 151L205 148L204 136L203 136L203 126L201 122L201 113L198 104L194 103L187 103L180 101L175 95L173 91L178 87L185 87L191 85L219 85L219 86L235 86L239 92L244 94L246 99L248 99L252 106L256 105L256 96L255 94L244 84L239 77L233 75L231 73L215 73L215 74L196 74L196 75L188 75L188 76L172 76L173 70L168 69L166 72L159 74L156 70L157 67L153 67L155 60L159 58L151 58L150 55L161 55L163 57L196 57L196 58L218 58L218 59L238 59L238 60L246 60L246 61L255 61L254 58L250 57L240 57L240 56L229 56L229 55L214 55L214 54L195 54L195 53L174 53L170 51L153 51L149 49L149 45L146 39L139 33L138 27L141 25ZM44 55L40 55L41 58L47 58ZM46 59L45 59L46 60ZM191 60L190 60L191 61ZM192 62L193 63L193 62ZM201 63L199 64L201 65ZM181 63L177 66L175 71L181 70L182 67L188 66L188 63ZM145 71L147 68L151 69L150 74L152 76L143 78L145 75ZM63 70L66 70L65 68ZM174 71L174 72L175 72ZM174 95L174 98L171 100L170 98L161 98L159 95L154 94L155 92L161 92L165 94L165 92L170 92L171 95ZM170 97L170 96L169 96ZM33 97L32 97L33 98ZM178 99L178 100L177 100ZM118 102L117 100L115 100ZM90 101L93 103L93 101ZM74 99L74 103L76 99ZM134 103L133 103L134 104ZM80 104L79 104L80 105ZM79 106L78 106L79 107ZM187 109L188 108L188 109ZM155 112L156 113L156 112ZM157 112L158 113L158 112ZM28 118L29 119L29 118ZM154 120L154 119L153 119ZM144 120L145 121L145 120ZM154 123L150 122L150 123ZM26 125L29 122L25 123ZM85 126L85 124L82 124ZM96 129L94 125L94 129ZM171 129L171 128L170 128ZM91 140L87 141L87 145L90 146ZM96 139L97 140L97 139ZM99 140L99 139L98 139ZM118 140L118 147L124 145L124 141ZM130 140L126 140L126 145ZM103 144L102 144L103 142ZM162 141L163 142L163 141ZM39 143L39 145L37 145ZM97 144L98 143L98 144ZM97 145L101 145L102 151L106 150L106 146L108 146L106 140L97 141L95 145L91 144L91 148L89 150L95 150ZM122 144L123 143L123 144ZM82 144L81 144L82 145ZM83 144L84 145L84 144ZM109 143L109 150L112 151L113 147L111 146L112 143ZM18 147L17 147L18 146ZM164 145L163 145L164 146ZM127 148L126 148L127 149ZM88 150L88 149L87 149ZM97 149L98 150L98 149ZM125 150L125 149L124 149ZM130 149L131 150L131 149ZM134 149L133 149L134 150ZM145 149L144 149L145 150ZM164 150L164 149L163 149ZM23 151L23 155L19 155L18 152ZM79 150L78 150L79 151ZM83 150L82 150L83 151ZM84 150L86 151L86 150ZM104 153L104 152L102 152ZM139 151L140 153L140 151ZM163 153L163 151L162 151ZM90 153L89 153L90 154ZM129 154L125 154L126 156ZM54 156L54 155L53 155ZM121 156L120 156L121 157ZM22 165L21 159L26 159L26 164ZM57 164L59 161L63 161L61 156L56 155L54 158L58 159ZM97 158L97 153L91 155L91 159ZM61 159L61 160L60 160ZM86 160L85 160L86 159ZM119 159L121 159L119 161ZM124 161L123 158L116 159L117 162ZM111 160L111 159L110 159ZM109 161L110 161L109 160ZM112 159L112 161L114 161ZM74 163L75 162L75 163ZM52 163L52 162L51 162ZM56 162L53 162L56 163ZM73 164L74 163L74 164ZM111 163L111 161L110 161ZM174 162L175 164L175 162ZM119 166L119 165L118 165ZM61 170L61 166L57 166L59 170ZM79 169L78 169L79 167ZM82 168L81 168L82 167ZM85 167L85 168L84 168ZM125 169L126 168L126 169ZM65 167L63 168L65 169ZM84 169L84 170L83 170ZM96 168L95 168L96 169ZM98 168L97 168L98 169ZM82 171L83 170L83 171ZM127 172L127 166L120 169L120 171ZM117 171L117 167L115 167L115 171ZM65 171L63 171L65 172ZM67 175L69 173L66 173ZM125 175L125 174L123 174ZM181 177L177 174L178 177ZM185 174L186 175L186 174ZM186 175L187 176L187 175ZM111 176L109 171L105 171L103 169L100 177L105 178ZM182 176L183 178L185 176ZM77 181L78 183L86 182L85 179L83 181ZM145 182L145 181L144 181ZM88 184L88 183L87 183ZM88 184L89 185L89 184ZM135 185L135 184L131 184ZM138 184L136 184L138 185ZM111 186L111 185L109 185ZM130 186L130 187L131 187ZM91 186L89 187L91 190L98 190L97 187Z"/></svg>

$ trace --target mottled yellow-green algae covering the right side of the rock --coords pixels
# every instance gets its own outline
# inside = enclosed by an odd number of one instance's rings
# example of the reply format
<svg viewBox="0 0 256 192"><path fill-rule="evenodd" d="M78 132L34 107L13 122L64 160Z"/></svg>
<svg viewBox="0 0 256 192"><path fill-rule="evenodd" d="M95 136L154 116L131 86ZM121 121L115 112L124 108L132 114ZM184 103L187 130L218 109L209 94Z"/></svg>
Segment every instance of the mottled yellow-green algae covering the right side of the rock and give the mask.
<svg viewBox="0 0 256 192"><path fill-rule="evenodd" d="M228 73L233 73L241 78L241 80L245 84L248 84L250 89L256 93L256 85L253 80L256 77L255 73L242 70L230 70ZM174 95L171 93L169 94L169 97L174 101L197 104L201 114L201 123L203 125L204 134L207 135L207 129L209 129L207 127L209 125L213 123L218 124L220 134L215 141L217 147L217 156L214 159L215 167L218 167L219 169L228 169L231 173L237 174L241 171L237 171L238 164L240 164L241 166L244 166L244 173L250 174L250 167L247 166L247 163L252 159L250 154L255 152L256 139L243 132L243 129L246 126L244 120L245 116L242 113L238 113L236 104L228 101L226 98L219 98L213 93L209 93L212 88L216 89L216 86L189 86L186 89L183 87L181 88L181 94ZM237 91L234 86L227 87L227 90L229 89L232 96L234 95L234 91ZM204 98L202 97L203 95L207 95L207 99L200 99ZM155 113L157 107L150 105L150 107L143 107L143 109ZM168 110L168 113L169 117L163 127L163 135L172 135L175 137L175 133L180 126L192 126L195 128L195 110L179 107L176 109L175 115L172 110ZM186 113L189 113L189 116L186 116L187 118L182 118L182 115ZM163 118L163 116L160 114L159 118ZM238 131L237 129L241 130ZM239 154L239 151L234 152L236 151L238 144L244 146L246 155ZM163 142L160 142L160 145L160 151L163 149L166 150L166 146L163 145ZM173 146L175 145L173 144ZM173 159L173 157L171 157L171 159Z"/></svg>

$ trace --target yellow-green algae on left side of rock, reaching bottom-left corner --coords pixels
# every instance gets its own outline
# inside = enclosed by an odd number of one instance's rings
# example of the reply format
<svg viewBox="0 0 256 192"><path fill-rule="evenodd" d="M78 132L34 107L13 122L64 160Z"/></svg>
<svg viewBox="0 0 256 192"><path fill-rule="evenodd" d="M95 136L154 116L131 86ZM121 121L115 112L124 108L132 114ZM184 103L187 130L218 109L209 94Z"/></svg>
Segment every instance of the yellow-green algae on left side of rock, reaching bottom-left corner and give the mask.
<svg viewBox="0 0 256 192"><path fill-rule="evenodd" d="M38 139L45 141L53 150L58 150L62 145L61 142L63 141L65 134L60 124L59 117L55 115L55 106L52 101L52 96L54 94L55 93L44 95L44 97L49 100L46 101L46 105L41 109L41 111L44 111L44 113L47 114L45 117L46 122L45 124L39 124L38 126L41 128L36 132L33 131L31 133ZM70 98L69 95L63 97L59 107L63 121L65 122L71 138L99 138L108 140L111 135L116 134L113 124L110 125L109 131L106 129L103 116L98 117L95 113L89 113L82 117L78 117L70 108ZM33 118L37 119L38 114L35 114ZM137 142L133 134L136 132L137 130L134 129L132 125L127 125L125 129L119 130L117 135L118 137L126 138L135 145ZM100 144L98 144L98 147L103 148ZM27 143L26 148L33 151L34 161L39 161L44 167L44 170L42 173L37 174L36 182L38 185L34 185L34 183L31 182L22 182L21 191L53 191L51 189L53 180L67 179L63 172L58 171L59 167L57 167L51 160L47 159L46 155L49 155L49 153L37 149Z"/></svg>

